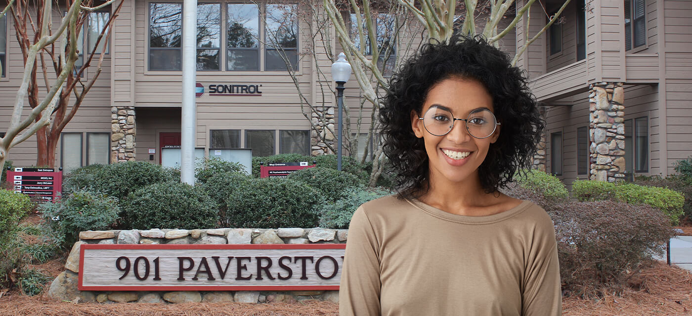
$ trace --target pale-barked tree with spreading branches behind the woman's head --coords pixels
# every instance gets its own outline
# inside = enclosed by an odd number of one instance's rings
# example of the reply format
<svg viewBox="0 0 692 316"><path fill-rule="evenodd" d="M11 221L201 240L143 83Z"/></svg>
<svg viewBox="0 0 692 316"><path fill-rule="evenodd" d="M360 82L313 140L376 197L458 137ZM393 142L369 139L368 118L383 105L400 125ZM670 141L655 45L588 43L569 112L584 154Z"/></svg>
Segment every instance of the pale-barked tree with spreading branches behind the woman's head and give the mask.
<svg viewBox="0 0 692 316"><path fill-rule="evenodd" d="M423 41L448 42L453 35L475 36L482 34L489 44L498 46L498 41L511 32L516 25L527 17L524 22L525 29L529 29L529 8L536 0L527 0L522 6L517 6L513 0L323 0L325 12L331 20L336 36L341 47L346 53L348 62L354 69L354 75L360 86L363 97L372 104L372 119L376 120L381 104L382 91L388 91L387 69L383 67L381 55L395 55L394 69L406 60L408 55L415 53L417 46L366 46L361 43L374 43L378 41L378 27L374 24L374 17L383 12L383 8L397 8L397 17L407 17L408 26L397 26L397 32L407 29L407 34L417 34L422 30ZM394 3L392 3L394 2ZM555 15L548 16L549 21L536 34L530 36L524 32L524 45L518 47L516 55L512 59L512 65L516 65L519 57L525 52L527 46L536 41L556 21L570 0L565 0ZM543 3L539 4L543 7ZM403 8L403 10L399 9ZM343 12L350 12L356 18L347 21ZM512 17L513 16L513 17ZM511 18L511 22L502 28L500 22ZM415 21L410 21L415 20ZM399 39L397 35L395 38ZM398 44L398 42L395 42ZM396 54L388 50L397 50ZM412 48L412 50L411 50ZM373 78L375 84L373 84ZM373 123L370 129L370 137L373 130L377 129ZM349 134L347 134L349 135ZM374 159L369 185L374 186L379 178L386 157L382 154L381 141L374 142ZM364 158L364 157L363 157Z"/></svg>

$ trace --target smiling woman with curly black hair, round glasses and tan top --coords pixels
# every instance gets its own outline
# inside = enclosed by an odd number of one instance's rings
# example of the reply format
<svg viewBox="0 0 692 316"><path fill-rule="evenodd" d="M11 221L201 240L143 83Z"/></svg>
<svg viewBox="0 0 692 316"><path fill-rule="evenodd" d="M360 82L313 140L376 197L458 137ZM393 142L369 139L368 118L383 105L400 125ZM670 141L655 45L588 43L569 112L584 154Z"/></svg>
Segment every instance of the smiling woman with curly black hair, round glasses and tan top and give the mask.
<svg viewBox="0 0 692 316"><path fill-rule="evenodd" d="M560 315L550 217L498 192L543 131L526 82L466 37L427 44L392 76L380 119L398 196L352 218L340 315Z"/></svg>

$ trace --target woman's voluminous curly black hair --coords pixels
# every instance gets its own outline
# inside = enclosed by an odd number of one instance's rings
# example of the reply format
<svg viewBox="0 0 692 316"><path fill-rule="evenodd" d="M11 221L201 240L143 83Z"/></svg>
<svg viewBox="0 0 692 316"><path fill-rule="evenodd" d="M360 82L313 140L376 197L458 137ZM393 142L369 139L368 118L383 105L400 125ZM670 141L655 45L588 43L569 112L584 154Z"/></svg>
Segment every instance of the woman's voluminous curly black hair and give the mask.
<svg viewBox="0 0 692 316"><path fill-rule="evenodd" d="M509 56L482 37L455 36L449 44L425 44L392 75L380 110L383 151L390 159L400 197L415 198L428 190L428 154L411 129L411 111L421 110L432 86L450 77L477 80L493 98L502 129L478 167L486 193L511 183L531 165L545 122L540 118L527 77L511 66Z"/></svg>

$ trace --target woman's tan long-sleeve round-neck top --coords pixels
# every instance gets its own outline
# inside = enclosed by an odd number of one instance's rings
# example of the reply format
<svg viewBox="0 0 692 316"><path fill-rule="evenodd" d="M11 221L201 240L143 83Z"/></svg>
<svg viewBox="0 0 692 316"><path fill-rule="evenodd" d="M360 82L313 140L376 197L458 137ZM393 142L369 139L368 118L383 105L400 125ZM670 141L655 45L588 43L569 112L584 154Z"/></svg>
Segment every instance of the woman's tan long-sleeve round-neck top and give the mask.
<svg viewBox="0 0 692 316"><path fill-rule="evenodd" d="M534 203L491 216L386 196L351 220L340 315L561 314L553 223Z"/></svg>

